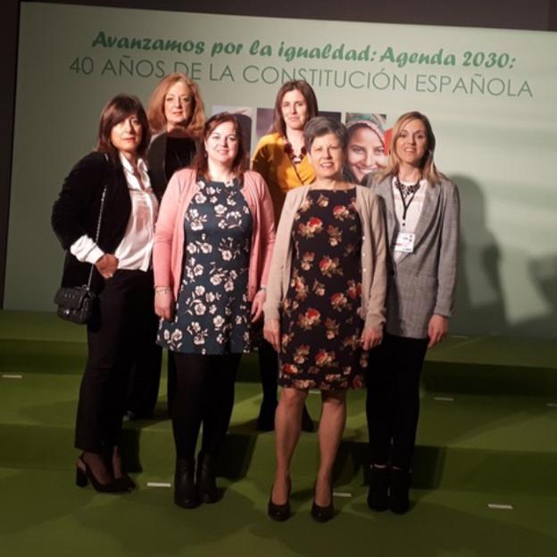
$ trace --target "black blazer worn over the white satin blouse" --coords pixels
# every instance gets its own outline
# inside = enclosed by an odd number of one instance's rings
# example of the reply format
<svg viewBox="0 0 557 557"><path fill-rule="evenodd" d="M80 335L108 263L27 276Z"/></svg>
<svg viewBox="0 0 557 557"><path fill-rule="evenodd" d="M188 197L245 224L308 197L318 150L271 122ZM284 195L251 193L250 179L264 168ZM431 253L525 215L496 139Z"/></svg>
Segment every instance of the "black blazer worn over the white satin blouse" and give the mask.
<svg viewBox="0 0 557 557"><path fill-rule="evenodd" d="M96 237L104 184L107 186L106 198L97 245L105 253L113 254L124 237L131 212L128 183L120 162L112 162L98 152L87 154L71 169L58 199L54 202L51 223L66 250L63 287L87 284L90 263L79 262L69 250L84 234L91 238ZM154 193L160 199L155 189ZM99 293L103 285L103 277L94 268L92 289Z"/></svg>

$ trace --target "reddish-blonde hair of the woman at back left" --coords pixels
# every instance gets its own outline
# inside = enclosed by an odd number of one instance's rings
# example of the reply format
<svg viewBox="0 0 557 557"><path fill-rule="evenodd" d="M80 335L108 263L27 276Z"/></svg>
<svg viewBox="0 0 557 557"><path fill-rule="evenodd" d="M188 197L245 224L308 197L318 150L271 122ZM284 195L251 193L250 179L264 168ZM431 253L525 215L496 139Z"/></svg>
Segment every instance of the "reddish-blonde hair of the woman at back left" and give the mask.
<svg viewBox="0 0 557 557"><path fill-rule="evenodd" d="M170 87L181 81L191 91L192 95L192 113L187 122L187 133L192 137L199 137L203 131L205 123L204 103L199 92L199 87L193 79L187 77L185 73L176 71L169 73L159 82L159 85L153 91L153 95L149 100L147 108L147 118L151 131L154 134L166 130L166 117L164 116L164 98Z"/></svg>

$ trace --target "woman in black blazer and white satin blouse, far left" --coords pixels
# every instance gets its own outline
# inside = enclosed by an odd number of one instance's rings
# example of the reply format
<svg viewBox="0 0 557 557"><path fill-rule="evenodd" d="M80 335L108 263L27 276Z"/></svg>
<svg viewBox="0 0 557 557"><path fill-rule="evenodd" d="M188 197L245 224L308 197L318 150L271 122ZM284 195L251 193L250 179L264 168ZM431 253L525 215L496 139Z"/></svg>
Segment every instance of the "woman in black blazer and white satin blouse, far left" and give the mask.
<svg viewBox="0 0 557 557"><path fill-rule="evenodd" d="M137 97L115 96L101 114L96 151L71 170L52 212L66 250L62 286L87 284L90 276L96 293L75 443L83 451L78 485L90 481L101 492L134 487L119 451L129 370L158 351L151 271L158 200L143 158L149 137Z"/></svg>

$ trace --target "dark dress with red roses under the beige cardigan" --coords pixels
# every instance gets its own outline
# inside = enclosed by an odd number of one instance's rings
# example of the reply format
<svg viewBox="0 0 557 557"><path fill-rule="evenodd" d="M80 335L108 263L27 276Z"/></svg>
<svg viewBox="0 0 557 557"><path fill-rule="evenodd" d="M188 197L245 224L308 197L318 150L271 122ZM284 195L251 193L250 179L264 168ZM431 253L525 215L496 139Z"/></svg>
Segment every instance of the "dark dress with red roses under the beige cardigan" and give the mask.
<svg viewBox="0 0 557 557"><path fill-rule="evenodd" d="M360 248L355 188L309 190L292 228L292 279L282 305L278 384L363 387Z"/></svg>

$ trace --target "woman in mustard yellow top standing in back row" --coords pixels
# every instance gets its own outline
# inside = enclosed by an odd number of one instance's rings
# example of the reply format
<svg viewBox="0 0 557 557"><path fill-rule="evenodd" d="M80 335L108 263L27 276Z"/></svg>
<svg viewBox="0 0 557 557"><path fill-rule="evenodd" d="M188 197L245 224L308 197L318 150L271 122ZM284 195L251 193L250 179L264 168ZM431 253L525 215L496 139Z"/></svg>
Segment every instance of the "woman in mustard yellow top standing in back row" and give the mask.
<svg viewBox="0 0 557 557"><path fill-rule="evenodd" d="M253 170L267 182L278 223L287 192L311 184L315 179L312 164L303 144L303 126L317 116L317 98L303 80L287 81L278 89L272 132L263 136L255 149ZM259 348L263 400L257 428L270 431L275 427L277 408L277 353L265 340ZM313 422L303 407L302 428L313 431Z"/></svg>

